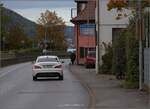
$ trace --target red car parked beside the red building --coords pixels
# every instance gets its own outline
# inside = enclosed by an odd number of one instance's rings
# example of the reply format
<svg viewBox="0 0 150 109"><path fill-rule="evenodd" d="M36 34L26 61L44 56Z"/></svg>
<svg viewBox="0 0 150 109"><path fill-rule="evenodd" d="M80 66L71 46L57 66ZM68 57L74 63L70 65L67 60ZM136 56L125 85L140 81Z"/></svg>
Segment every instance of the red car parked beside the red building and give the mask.
<svg viewBox="0 0 150 109"><path fill-rule="evenodd" d="M88 51L88 54L85 58L85 67L95 68L95 63L96 63L96 51Z"/></svg>

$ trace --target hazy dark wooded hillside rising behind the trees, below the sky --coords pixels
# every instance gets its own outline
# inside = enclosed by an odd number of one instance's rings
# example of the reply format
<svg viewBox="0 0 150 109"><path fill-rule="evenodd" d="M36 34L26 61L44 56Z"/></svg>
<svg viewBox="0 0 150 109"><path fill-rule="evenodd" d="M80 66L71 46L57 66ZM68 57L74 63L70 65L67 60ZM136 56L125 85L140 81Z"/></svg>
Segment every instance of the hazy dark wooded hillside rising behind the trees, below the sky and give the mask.
<svg viewBox="0 0 150 109"><path fill-rule="evenodd" d="M19 15L18 13L4 7L2 7L1 14L10 18L9 23L5 25L7 29L12 27L14 24L21 24L23 26L25 34L28 37L36 36L37 24L35 22L32 22L27 18ZM69 46L72 46L72 44L74 44L74 27L66 26L65 39L67 40Z"/></svg>

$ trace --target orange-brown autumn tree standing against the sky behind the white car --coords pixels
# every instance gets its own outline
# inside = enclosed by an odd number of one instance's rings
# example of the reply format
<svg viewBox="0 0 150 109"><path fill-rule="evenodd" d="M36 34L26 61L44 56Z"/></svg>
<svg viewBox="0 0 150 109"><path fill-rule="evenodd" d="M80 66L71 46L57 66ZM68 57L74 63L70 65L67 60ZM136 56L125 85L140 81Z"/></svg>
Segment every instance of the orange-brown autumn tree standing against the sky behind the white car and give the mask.
<svg viewBox="0 0 150 109"><path fill-rule="evenodd" d="M46 10L38 19L37 40L42 48L50 50L64 50L67 47L65 40L65 22L56 12Z"/></svg>

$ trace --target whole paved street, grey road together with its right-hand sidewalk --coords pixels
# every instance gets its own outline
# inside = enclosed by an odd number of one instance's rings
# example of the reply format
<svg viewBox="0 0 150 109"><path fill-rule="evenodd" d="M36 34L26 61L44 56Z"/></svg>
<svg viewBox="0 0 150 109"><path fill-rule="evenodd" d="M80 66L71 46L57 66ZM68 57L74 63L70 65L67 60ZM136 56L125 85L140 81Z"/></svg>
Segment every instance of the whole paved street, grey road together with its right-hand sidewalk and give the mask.
<svg viewBox="0 0 150 109"><path fill-rule="evenodd" d="M124 89L113 76L96 75L95 69L65 60L63 81L32 81L31 66L1 69L0 109L148 109L145 92Z"/></svg>

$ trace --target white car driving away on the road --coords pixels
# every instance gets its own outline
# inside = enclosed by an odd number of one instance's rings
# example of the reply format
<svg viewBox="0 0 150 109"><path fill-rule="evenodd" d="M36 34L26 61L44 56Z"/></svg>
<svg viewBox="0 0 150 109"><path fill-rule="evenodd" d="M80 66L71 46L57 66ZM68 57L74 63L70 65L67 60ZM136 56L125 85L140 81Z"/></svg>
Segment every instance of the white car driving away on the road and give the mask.
<svg viewBox="0 0 150 109"><path fill-rule="evenodd" d="M63 68L57 56L39 56L32 67L33 80L37 77L59 77L63 80Z"/></svg>

